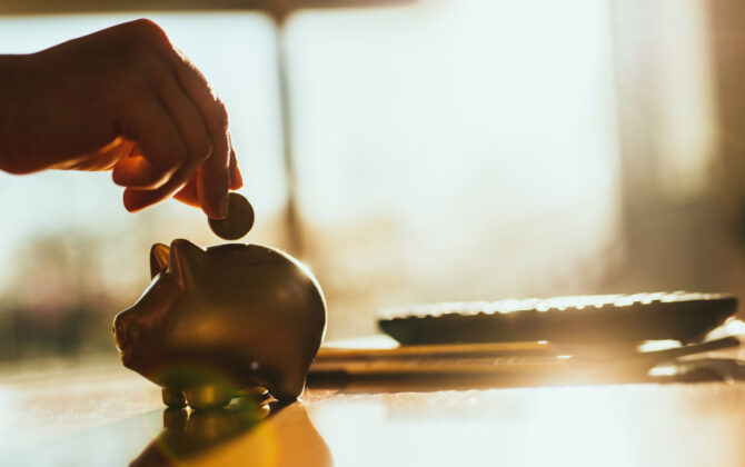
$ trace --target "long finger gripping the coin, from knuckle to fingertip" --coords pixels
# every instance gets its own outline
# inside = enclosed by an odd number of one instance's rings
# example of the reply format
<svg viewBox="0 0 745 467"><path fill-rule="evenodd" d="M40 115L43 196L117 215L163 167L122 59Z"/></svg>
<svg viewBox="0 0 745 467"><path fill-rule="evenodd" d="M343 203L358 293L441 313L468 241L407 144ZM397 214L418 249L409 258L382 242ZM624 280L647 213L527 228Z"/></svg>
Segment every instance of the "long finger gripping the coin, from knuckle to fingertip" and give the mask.
<svg viewBox="0 0 745 467"><path fill-rule="evenodd" d="M179 82L199 109L212 141L211 156L198 169L199 205L208 217L221 219L228 215L228 189L231 181L228 113L201 73L186 58L178 57L176 69Z"/></svg>

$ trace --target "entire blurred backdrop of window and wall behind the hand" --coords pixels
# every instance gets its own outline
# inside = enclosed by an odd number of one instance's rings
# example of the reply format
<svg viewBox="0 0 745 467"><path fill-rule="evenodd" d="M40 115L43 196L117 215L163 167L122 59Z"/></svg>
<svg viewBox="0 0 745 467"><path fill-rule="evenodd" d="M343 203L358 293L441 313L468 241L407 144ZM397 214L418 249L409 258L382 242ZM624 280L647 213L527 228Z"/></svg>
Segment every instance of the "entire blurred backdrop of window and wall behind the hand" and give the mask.
<svg viewBox="0 0 745 467"><path fill-rule="evenodd" d="M95 3L3 0L0 53L157 21L228 107L245 240L307 262L327 339L411 302L745 285L742 2ZM220 242L109 177L0 173L0 361L115 352L151 244Z"/></svg>

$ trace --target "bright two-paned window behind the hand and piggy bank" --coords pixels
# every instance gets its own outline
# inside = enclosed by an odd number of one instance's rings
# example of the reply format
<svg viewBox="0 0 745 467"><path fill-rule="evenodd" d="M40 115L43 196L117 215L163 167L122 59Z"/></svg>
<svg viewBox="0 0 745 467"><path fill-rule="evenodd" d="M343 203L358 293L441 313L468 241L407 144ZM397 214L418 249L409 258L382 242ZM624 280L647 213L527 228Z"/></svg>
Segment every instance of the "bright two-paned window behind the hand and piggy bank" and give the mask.
<svg viewBox="0 0 745 467"><path fill-rule="evenodd" d="M1 19L0 51L136 17ZM304 246L290 252L324 287L328 338L374 331L385 306L602 287L620 211L604 2L306 11L280 36L256 13L148 17L227 103L257 210L247 240L289 248L284 40ZM217 242L191 208L128 215L119 196L106 173L0 173L0 320L17 336L0 358L49 351L33 338L44 332L70 351L112 348L110 320L145 288L150 245Z"/></svg>

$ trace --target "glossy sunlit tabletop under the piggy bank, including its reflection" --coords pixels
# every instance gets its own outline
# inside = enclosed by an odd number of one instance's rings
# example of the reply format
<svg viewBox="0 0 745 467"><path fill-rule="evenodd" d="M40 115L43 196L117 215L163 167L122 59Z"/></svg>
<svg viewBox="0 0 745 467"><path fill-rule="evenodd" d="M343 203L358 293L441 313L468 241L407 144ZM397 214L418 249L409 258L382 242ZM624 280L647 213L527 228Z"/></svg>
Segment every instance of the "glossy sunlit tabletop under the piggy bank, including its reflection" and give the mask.
<svg viewBox="0 0 745 467"><path fill-rule="evenodd" d="M739 381L326 384L187 420L106 356L0 368L0 465L745 465Z"/></svg>

